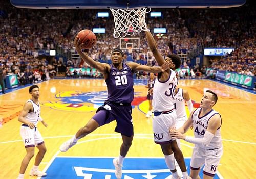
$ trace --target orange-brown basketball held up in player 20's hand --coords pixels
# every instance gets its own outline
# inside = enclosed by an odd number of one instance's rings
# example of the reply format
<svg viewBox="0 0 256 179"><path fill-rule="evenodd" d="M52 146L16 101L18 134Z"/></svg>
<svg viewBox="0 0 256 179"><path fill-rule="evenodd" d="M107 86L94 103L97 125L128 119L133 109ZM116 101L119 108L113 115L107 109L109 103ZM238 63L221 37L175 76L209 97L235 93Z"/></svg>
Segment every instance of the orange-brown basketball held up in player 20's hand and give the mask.
<svg viewBox="0 0 256 179"><path fill-rule="evenodd" d="M96 35L89 29L81 30L77 36L81 39L84 49L89 49L96 43Z"/></svg>

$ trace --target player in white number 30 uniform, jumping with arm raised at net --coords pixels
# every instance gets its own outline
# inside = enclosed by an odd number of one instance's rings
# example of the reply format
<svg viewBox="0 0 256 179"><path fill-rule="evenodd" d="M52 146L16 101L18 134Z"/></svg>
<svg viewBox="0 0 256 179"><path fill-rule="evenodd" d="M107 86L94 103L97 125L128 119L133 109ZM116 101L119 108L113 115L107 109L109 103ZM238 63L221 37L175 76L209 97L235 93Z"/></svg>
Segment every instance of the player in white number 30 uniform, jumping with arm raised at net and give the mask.
<svg viewBox="0 0 256 179"><path fill-rule="evenodd" d="M169 135L169 129L176 126L177 115L174 110L173 97L178 84L175 69L180 67L181 60L179 56L170 54L165 59L160 54L157 43L149 31L146 32L148 45L157 61L161 66L166 61L172 61L169 65L170 69L158 73L155 85L153 88L153 132L155 143L160 144L164 154L165 163L172 172L172 178L180 178L175 167L175 157L172 147L176 148L176 160L180 165L183 178L190 178L187 174L184 158L179 149L176 139L172 139Z"/></svg>

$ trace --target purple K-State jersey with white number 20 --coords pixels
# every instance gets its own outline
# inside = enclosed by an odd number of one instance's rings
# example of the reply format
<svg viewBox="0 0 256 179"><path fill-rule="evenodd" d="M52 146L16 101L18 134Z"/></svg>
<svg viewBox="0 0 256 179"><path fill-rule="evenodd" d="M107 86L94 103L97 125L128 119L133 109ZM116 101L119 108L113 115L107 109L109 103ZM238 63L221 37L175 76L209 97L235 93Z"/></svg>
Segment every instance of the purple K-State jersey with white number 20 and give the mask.
<svg viewBox="0 0 256 179"><path fill-rule="evenodd" d="M108 99L113 103L132 103L134 97L133 72L131 68L123 63L123 68L118 70L111 65L108 79Z"/></svg>

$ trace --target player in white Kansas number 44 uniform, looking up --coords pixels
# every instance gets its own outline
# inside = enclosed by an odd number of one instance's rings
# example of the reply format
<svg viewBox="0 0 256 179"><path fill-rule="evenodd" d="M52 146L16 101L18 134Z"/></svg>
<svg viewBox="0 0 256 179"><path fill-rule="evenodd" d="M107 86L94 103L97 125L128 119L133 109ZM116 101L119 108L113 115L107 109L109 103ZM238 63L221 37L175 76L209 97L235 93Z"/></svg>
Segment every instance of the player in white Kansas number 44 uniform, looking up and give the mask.
<svg viewBox="0 0 256 179"><path fill-rule="evenodd" d="M183 139L196 144L190 162L190 176L198 179L200 168L203 165L203 179L214 178L217 166L223 154L221 140L221 115L212 109L218 96L211 90L207 90L202 99L200 108L190 114L185 124L178 129L170 129L173 138ZM195 137L185 136L184 133L193 125Z"/></svg>

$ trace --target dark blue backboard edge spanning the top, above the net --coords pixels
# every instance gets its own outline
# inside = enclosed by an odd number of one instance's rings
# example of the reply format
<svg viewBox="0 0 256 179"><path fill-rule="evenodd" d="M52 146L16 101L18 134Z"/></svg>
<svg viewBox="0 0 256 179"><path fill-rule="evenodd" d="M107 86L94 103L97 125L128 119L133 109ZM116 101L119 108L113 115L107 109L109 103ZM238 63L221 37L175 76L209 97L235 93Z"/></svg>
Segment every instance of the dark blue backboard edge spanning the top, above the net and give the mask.
<svg viewBox="0 0 256 179"><path fill-rule="evenodd" d="M10 0L18 8L33 9L137 9L137 8L228 8L246 0Z"/></svg>

